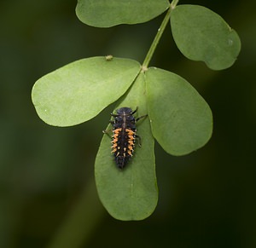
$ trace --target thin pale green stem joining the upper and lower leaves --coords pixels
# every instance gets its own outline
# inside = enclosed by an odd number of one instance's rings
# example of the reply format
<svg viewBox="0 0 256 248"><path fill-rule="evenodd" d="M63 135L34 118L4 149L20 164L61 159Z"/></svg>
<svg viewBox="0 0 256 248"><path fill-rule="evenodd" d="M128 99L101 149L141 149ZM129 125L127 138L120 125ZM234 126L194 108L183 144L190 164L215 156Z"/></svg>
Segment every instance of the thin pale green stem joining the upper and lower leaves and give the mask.
<svg viewBox="0 0 256 248"><path fill-rule="evenodd" d="M160 37L162 36L163 32L166 29L166 25L167 25L167 23L168 23L168 21L170 19L170 15L171 15L172 9L174 9L176 7L177 2L178 2L178 0L173 0L172 3L170 4L170 8L168 9L168 11L166 13L166 16L165 16L164 20L162 21L156 36L154 37L154 41L151 44L150 49L148 50L148 54L146 55L146 58L143 61L143 70L146 70L148 68L148 64L151 61L152 56L154 55L154 50L156 49L157 44L160 41Z"/></svg>

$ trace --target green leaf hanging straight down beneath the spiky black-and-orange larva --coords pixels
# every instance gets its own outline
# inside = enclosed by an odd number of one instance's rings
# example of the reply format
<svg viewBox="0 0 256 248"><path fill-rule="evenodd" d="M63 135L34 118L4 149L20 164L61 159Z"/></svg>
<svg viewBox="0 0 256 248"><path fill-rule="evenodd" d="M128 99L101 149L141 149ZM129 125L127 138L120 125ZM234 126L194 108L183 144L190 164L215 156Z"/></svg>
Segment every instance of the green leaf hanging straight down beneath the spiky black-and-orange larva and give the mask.
<svg viewBox="0 0 256 248"><path fill-rule="evenodd" d="M138 107L137 117L148 113L143 74L139 75L119 107ZM110 125L108 130L111 130ZM96 155L95 176L99 197L109 214L123 221L143 220L150 216L158 200L154 138L148 117L137 122L137 135L142 139L142 147L135 147L133 157L124 170L119 170L114 162L109 136L103 136Z"/></svg>

